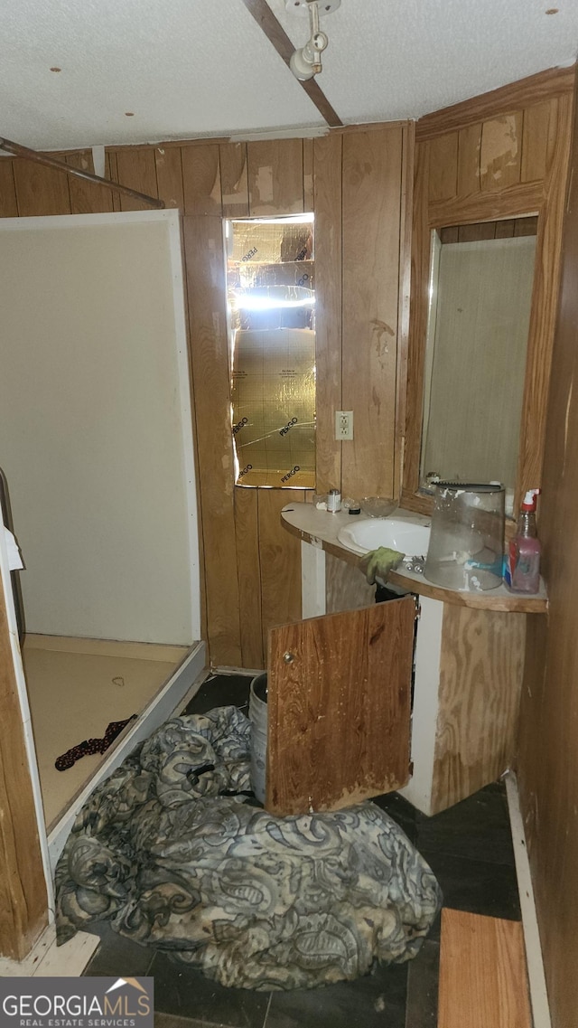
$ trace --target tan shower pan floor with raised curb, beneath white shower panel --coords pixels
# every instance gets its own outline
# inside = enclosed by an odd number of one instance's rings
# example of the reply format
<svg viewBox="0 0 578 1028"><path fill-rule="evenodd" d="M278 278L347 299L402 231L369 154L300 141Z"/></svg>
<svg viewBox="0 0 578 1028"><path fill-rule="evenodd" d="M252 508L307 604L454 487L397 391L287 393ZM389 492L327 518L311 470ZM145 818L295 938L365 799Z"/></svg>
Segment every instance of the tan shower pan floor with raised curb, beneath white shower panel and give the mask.
<svg viewBox="0 0 578 1028"><path fill-rule="evenodd" d="M63 821L72 823L107 769L110 773L170 717L202 671L203 657L199 642L187 648L27 635L23 659L49 842ZM55 769L62 754L84 739L102 738L110 722L133 713L137 721L105 754L82 757L66 771Z"/></svg>

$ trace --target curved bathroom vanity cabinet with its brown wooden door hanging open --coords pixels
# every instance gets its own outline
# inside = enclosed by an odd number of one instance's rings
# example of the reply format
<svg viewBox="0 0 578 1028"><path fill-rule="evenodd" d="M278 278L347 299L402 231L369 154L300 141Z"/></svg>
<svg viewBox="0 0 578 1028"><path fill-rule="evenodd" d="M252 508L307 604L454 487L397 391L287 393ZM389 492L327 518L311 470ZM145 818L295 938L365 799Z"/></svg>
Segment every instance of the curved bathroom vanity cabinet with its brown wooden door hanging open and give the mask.
<svg viewBox="0 0 578 1028"><path fill-rule="evenodd" d="M312 504L281 512L302 541L305 620L270 633L266 806L303 813L398 790L434 814L511 765L528 619L545 613L545 590L458 592L398 570L399 599L375 603L362 557L338 538L352 520Z"/></svg>

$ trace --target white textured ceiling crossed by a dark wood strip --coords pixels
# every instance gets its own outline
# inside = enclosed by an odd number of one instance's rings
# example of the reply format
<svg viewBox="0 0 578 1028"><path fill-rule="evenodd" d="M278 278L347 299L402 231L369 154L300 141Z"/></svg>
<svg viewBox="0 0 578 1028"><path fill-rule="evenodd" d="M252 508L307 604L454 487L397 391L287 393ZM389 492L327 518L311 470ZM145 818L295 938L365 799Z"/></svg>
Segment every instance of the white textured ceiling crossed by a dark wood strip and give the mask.
<svg viewBox="0 0 578 1028"><path fill-rule="evenodd" d="M578 0L557 3L342 0L317 81L345 123L419 117L573 63ZM37 149L323 125L242 0L0 0L0 136Z"/></svg>

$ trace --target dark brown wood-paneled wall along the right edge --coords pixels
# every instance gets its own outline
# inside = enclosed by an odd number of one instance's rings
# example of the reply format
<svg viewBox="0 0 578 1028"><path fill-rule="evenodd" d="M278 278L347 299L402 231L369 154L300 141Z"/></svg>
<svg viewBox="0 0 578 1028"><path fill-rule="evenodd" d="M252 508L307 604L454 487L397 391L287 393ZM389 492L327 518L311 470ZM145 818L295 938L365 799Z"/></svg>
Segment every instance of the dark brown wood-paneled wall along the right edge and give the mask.
<svg viewBox="0 0 578 1028"><path fill-rule="evenodd" d="M519 721L518 782L552 1028L578 1026L577 269L578 116L539 511L549 611L529 632Z"/></svg>

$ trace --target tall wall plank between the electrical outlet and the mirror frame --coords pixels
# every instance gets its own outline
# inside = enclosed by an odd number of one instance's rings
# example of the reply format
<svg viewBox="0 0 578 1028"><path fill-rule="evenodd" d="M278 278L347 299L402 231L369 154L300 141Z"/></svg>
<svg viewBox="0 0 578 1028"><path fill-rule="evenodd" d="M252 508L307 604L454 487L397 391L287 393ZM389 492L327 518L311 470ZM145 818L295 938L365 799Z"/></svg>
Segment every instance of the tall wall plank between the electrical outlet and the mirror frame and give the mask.
<svg viewBox="0 0 578 1028"><path fill-rule="evenodd" d="M342 403L347 495L392 497L399 286L401 127L343 137Z"/></svg>

